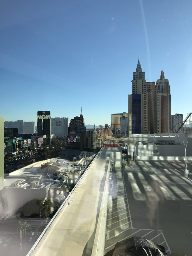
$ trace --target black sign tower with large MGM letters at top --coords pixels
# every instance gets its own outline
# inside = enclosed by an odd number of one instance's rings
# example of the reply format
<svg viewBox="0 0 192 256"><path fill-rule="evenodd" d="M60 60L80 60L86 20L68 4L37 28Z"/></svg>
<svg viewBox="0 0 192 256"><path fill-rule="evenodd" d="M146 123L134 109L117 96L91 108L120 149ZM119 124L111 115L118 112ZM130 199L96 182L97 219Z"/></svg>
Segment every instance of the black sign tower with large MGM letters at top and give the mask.
<svg viewBox="0 0 192 256"><path fill-rule="evenodd" d="M46 138L50 138L50 134L51 134L50 111L38 111L37 112L37 135L46 135Z"/></svg>

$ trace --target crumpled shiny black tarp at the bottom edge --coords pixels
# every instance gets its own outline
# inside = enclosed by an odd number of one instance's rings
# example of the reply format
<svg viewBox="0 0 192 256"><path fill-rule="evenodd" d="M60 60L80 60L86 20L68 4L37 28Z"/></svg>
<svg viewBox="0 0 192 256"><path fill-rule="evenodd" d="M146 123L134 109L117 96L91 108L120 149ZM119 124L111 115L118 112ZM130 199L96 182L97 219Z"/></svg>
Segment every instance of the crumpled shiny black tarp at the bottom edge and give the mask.
<svg viewBox="0 0 192 256"><path fill-rule="evenodd" d="M142 237L131 237L115 244L105 256L167 256L164 246Z"/></svg>

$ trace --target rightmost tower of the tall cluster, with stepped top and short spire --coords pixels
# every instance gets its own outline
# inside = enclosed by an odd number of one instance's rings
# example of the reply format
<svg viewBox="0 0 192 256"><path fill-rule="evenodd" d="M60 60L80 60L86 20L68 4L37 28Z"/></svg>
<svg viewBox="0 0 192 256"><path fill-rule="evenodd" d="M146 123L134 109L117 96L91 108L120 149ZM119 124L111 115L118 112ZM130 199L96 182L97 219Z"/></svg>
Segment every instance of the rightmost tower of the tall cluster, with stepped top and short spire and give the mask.
<svg viewBox="0 0 192 256"><path fill-rule="evenodd" d="M159 109L159 132L166 133L171 131L171 94L169 81L165 79L163 70L160 79L156 81L159 90L158 109Z"/></svg>

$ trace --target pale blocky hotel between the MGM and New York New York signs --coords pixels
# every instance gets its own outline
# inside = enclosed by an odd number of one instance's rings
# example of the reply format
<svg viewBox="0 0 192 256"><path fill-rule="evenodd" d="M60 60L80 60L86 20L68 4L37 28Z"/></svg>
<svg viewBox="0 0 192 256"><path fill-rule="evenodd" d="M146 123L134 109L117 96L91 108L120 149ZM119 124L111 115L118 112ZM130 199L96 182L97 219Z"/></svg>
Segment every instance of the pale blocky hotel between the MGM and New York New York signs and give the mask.
<svg viewBox="0 0 192 256"><path fill-rule="evenodd" d="M51 133L56 137L66 137L68 134L68 117L51 118Z"/></svg>

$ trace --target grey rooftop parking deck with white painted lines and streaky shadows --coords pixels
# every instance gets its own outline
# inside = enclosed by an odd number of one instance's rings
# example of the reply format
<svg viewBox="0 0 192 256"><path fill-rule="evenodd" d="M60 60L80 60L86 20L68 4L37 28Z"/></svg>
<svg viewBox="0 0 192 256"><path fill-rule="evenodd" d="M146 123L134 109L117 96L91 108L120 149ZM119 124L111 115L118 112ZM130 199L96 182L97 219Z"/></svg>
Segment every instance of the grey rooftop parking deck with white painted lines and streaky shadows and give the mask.
<svg viewBox="0 0 192 256"><path fill-rule="evenodd" d="M115 243L141 236L163 245L167 255L191 255L192 181L184 161L141 161L113 172L105 253ZM189 177L192 163L187 161Z"/></svg>

